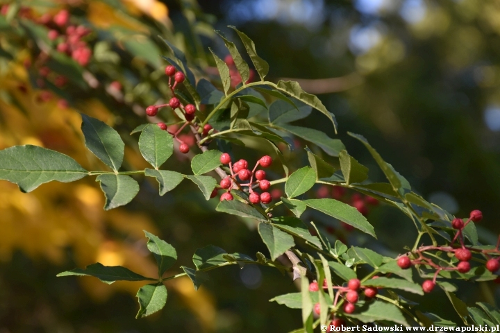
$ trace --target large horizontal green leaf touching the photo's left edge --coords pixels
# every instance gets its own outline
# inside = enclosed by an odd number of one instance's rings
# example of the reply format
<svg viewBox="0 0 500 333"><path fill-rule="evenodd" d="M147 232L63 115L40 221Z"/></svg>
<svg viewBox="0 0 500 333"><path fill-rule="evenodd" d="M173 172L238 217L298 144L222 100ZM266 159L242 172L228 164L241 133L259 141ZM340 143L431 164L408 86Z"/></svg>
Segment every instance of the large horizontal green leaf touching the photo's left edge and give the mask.
<svg viewBox="0 0 500 333"><path fill-rule="evenodd" d="M13 146L0 151L0 179L30 192L45 182L73 182L88 175L72 157L39 146Z"/></svg>

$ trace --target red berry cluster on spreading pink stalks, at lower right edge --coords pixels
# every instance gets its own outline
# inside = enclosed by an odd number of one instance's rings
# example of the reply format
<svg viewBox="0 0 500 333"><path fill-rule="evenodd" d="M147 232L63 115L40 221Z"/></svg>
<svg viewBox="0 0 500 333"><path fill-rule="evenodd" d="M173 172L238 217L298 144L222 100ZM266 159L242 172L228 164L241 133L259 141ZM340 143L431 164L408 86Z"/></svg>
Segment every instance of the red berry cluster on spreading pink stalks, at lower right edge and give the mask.
<svg viewBox="0 0 500 333"><path fill-rule="evenodd" d="M473 252L478 254L481 253L482 255L487 257L485 266L488 271L492 273L497 271L500 268L500 257L493 258L491 257L491 254L500 254L500 237L499 242L497 243L497 247L494 249L479 250L476 248L467 247L464 243L464 228L471 221L479 222L481 221L481 219L483 219L483 213L481 213L481 211L479 210L473 210L472 212L470 212L469 219L467 219L467 221L465 222L462 219L453 219L453 221L451 221L451 226L457 231L449 246L421 246L412 251L409 255L402 255L401 257L399 257L397 259L398 266L403 269L408 269L412 265L423 265L428 268L433 268L435 270L433 280L425 280L422 284L422 289L424 289L424 292L426 293L430 293L434 289L437 275L439 275L441 271L457 271L458 273L468 273L471 270L471 265L469 262L472 259ZM457 239L460 244L458 245L458 247L454 247L453 244ZM431 258L425 256L426 253L430 251L440 251L442 253L449 253L451 255L454 255L454 257L458 259L458 264L456 264L456 266L453 264L449 264L447 266L440 266L438 264L435 264L435 262L433 262ZM413 259L410 259L410 257Z"/></svg>

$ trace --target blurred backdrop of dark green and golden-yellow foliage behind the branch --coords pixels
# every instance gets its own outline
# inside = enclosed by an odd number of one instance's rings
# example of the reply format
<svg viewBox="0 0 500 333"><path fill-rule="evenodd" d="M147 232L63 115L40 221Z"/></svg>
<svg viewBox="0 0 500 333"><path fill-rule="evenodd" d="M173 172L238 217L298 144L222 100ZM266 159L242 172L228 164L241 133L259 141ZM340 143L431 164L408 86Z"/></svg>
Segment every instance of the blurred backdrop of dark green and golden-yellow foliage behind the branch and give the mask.
<svg viewBox="0 0 500 333"><path fill-rule="evenodd" d="M80 123L77 111L108 122L119 133L130 133L144 122L137 110L165 96L167 89L160 78L165 65L160 55L168 56L169 51L156 36L171 40L199 67L208 66L210 75L215 64L208 57L208 46L219 58L227 52L213 28L236 40L227 28L231 24L256 42L259 55L269 62L269 80L294 78L306 91L319 94L338 119L338 138L370 167L370 178L383 180L383 174L372 167L369 153L347 135L348 130L363 133L427 200L460 216L481 209L486 217L478 225L479 237L487 244L496 243L494 232L500 231L495 223L500 215L497 1L198 3L199 7L194 0L74 3L73 14L96 28L101 40L92 44L97 60L90 62L92 72L97 80L119 80L122 100L107 89L111 82L101 81L99 89L83 89L78 82L63 89L69 109L54 99L42 103L33 73L23 69L26 45L19 46L17 58L0 61L0 148L36 144L72 155L83 167L94 164L75 134ZM49 4L48 12L60 7ZM3 23L0 28L8 31ZM3 37L0 45L0 52L10 50ZM319 112L301 119L301 125L335 137L331 123ZM293 145L301 150L306 142L295 140ZM147 164L140 153L126 147L125 163L144 168ZM258 145L252 148L258 151L233 150L250 160L269 152ZM167 164L179 172L189 169L188 162ZM167 286L174 292L169 293L165 310L139 321L131 314L137 308L134 293L140 284L108 286L86 278L56 278L60 271L93 262L154 272L151 258L145 259L143 229L173 244L180 263L190 262L194 250L208 244L228 253L266 251L255 241L253 223L216 213L216 203L194 192L194 185L161 197L153 182L144 180L141 185L140 194L127 207L103 212L99 184L93 180L51 183L30 194L0 182L0 331L165 332L168 327L169 332L288 332L300 325L299 310L268 302L296 287L284 283L278 272L257 266L215 271L199 291L187 279L175 280ZM378 246L324 216L315 218L330 223L349 244ZM395 257L415 237L412 230L394 228L401 219L401 213L381 205L369 213L369 221L384 230L378 240L386 247L377 250L385 255ZM498 304L494 282L464 285L467 288L458 296L465 302ZM422 307L456 320L442 296L439 292L427 296Z"/></svg>

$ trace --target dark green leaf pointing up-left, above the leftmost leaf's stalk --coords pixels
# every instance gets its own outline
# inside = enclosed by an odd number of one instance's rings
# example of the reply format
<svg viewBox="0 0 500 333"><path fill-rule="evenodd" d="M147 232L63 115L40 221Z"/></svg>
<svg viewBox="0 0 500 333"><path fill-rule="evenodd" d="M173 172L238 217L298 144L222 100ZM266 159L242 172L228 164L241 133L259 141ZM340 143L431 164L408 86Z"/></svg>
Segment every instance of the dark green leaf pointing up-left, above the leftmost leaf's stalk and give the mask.
<svg viewBox="0 0 500 333"><path fill-rule="evenodd" d="M81 114L85 146L111 169L122 166L125 144L116 130L99 119Z"/></svg>

